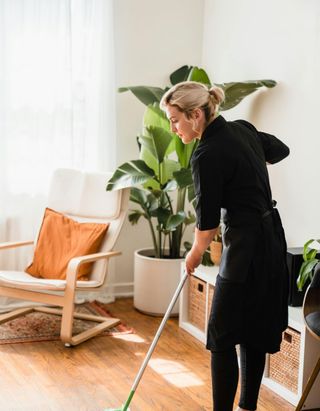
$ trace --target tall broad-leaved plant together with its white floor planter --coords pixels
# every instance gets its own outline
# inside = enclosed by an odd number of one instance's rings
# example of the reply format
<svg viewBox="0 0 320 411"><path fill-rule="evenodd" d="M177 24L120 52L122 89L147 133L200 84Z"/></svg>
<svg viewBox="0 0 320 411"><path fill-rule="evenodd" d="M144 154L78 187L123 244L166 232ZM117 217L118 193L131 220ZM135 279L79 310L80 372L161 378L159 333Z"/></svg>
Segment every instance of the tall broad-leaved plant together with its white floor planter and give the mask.
<svg viewBox="0 0 320 411"><path fill-rule="evenodd" d="M171 85L185 80L212 85L207 73L198 67L183 66L170 75ZM258 80L217 85L225 92L225 101L220 107L224 111L239 104L258 88L274 87L276 82ZM131 210L129 221L133 225L141 217L148 221L153 247L135 253L134 306L143 312L159 315L165 312L179 281L185 229L195 222L190 207L194 200L190 159L197 142L184 145L177 135L171 133L169 121L159 108L161 97L169 87L119 89L120 92L131 91L146 105L146 109L142 133L137 136L139 158L118 167L107 184L107 190L131 187L130 199L139 208ZM206 257L209 261L210 252ZM159 263L164 267L159 268ZM172 263L173 267L169 268ZM143 271L145 264L148 267ZM177 312L176 305L173 313Z"/></svg>

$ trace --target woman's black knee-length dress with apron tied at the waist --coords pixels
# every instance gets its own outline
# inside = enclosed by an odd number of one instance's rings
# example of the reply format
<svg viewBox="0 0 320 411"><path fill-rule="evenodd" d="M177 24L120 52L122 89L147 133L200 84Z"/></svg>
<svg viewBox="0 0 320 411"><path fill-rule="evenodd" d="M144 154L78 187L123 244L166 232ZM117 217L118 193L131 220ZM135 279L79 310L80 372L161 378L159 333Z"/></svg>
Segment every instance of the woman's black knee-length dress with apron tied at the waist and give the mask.
<svg viewBox="0 0 320 411"><path fill-rule="evenodd" d="M289 148L244 121L217 117L192 156L197 227L223 222L223 253L208 324L207 348L249 344L280 349L288 323L286 241L271 197L266 162Z"/></svg>

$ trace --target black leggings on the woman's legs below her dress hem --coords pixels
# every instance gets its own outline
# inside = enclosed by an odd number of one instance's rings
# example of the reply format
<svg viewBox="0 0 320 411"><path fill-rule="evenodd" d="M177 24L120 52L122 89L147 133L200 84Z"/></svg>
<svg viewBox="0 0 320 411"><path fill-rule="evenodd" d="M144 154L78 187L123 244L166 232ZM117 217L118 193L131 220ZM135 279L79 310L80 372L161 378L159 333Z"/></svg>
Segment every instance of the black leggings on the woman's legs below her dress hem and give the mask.
<svg viewBox="0 0 320 411"><path fill-rule="evenodd" d="M240 345L241 396L239 407L255 410L266 355L247 345ZM235 347L211 352L212 395L214 411L232 411L239 370Z"/></svg>

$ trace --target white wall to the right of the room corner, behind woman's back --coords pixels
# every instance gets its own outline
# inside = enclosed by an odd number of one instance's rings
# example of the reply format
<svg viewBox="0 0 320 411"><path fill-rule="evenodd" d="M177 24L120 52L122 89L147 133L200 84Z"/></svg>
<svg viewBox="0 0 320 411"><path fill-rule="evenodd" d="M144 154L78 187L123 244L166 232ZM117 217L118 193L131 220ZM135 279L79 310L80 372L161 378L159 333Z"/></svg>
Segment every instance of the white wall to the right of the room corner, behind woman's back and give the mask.
<svg viewBox="0 0 320 411"><path fill-rule="evenodd" d="M290 146L290 157L269 168L288 246L320 238L320 2L206 0L202 65L214 82L278 82L225 117Z"/></svg>

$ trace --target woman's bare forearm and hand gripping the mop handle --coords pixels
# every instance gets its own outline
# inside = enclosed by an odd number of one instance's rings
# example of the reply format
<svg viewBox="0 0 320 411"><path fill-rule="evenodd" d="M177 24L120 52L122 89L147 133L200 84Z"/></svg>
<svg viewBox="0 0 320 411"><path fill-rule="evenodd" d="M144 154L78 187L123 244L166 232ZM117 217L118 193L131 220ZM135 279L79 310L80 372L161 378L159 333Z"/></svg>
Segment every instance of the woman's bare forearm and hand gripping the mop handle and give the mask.
<svg viewBox="0 0 320 411"><path fill-rule="evenodd" d="M209 244L213 240L217 231L218 227L204 231L200 231L198 228L195 229L193 245L186 257L186 271L189 275L192 274L195 268L201 263L202 256L209 247Z"/></svg>

